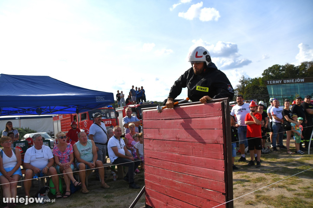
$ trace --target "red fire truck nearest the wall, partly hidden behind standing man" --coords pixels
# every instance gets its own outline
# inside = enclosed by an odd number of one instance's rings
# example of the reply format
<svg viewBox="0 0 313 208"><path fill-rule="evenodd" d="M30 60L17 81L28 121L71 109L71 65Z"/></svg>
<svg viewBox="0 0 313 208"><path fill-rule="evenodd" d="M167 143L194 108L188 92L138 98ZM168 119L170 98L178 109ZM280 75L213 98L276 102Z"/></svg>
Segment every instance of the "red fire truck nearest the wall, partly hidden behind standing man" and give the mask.
<svg viewBox="0 0 313 208"><path fill-rule="evenodd" d="M153 102L140 102L139 104L135 105L128 105L124 107L119 107L116 108L116 112L118 114L118 121L119 121L119 126L121 126L122 133L124 134L124 128L123 128L123 118L126 116L125 113L125 108L130 107L131 110L133 111L133 114L136 114L137 118L141 121L141 126L142 126L142 108L150 108L150 107L155 107L159 106L160 104L158 103L153 103ZM141 128L142 132L142 128Z"/></svg>

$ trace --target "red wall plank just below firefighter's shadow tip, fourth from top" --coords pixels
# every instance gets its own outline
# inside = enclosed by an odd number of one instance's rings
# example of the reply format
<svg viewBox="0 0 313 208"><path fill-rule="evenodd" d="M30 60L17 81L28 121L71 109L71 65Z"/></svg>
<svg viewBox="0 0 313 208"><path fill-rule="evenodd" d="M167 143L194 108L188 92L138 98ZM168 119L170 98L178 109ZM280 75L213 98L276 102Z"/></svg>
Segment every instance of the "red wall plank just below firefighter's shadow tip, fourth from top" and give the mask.
<svg viewBox="0 0 313 208"><path fill-rule="evenodd" d="M145 139L144 150L157 150L160 152L170 152L182 155L201 156L223 160L223 145L207 144L185 141L161 141Z"/></svg>

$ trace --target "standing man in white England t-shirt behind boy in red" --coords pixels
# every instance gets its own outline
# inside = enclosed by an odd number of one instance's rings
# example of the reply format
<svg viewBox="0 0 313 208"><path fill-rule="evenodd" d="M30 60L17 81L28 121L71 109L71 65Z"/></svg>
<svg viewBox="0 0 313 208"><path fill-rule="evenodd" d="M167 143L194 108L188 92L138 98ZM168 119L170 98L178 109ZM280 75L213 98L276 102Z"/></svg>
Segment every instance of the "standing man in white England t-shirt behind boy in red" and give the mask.
<svg viewBox="0 0 313 208"><path fill-rule="evenodd" d="M241 157L238 162L247 161L244 154L245 147L248 146L247 141L247 125L244 123L244 119L247 113L250 113L249 103L244 103L244 97L242 95L237 95L236 98L237 105L233 106L230 111L231 116L236 116L238 128L238 138L239 138L239 147L241 152ZM232 117L233 118L233 117Z"/></svg>

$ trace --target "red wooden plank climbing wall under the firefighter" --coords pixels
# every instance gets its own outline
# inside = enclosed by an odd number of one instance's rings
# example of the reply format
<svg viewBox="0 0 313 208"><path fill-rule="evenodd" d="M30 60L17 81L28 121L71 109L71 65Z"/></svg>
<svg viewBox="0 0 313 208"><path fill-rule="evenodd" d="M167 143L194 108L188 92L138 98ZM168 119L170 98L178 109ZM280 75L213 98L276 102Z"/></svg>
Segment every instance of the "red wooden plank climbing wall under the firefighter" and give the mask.
<svg viewBox="0 0 313 208"><path fill-rule="evenodd" d="M146 205L207 208L232 199L229 119L227 100L143 111Z"/></svg>

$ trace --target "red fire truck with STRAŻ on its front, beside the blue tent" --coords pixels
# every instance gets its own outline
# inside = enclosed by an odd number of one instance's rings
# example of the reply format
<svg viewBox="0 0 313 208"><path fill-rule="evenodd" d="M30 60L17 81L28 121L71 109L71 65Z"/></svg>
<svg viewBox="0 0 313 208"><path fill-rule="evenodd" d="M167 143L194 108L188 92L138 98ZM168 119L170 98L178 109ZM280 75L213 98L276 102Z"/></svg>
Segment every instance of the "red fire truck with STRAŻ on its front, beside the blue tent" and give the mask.
<svg viewBox="0 0 313 208"><path fill-rule="evenodd" d="M95 113L102 114L102 121L105 123L106 129L113 128L117 125L118 120L115 116L115 110L112 106L106 106L103 108L98 108L91 111L86 111L79 114L60 114L53 117L53 128L54 135L59 131L63 131L64 133L68 132L71 129L71 122L76 121L78 124L78 128L81 130L89 130L91 124L93 124L93 116Z"/></svg>

